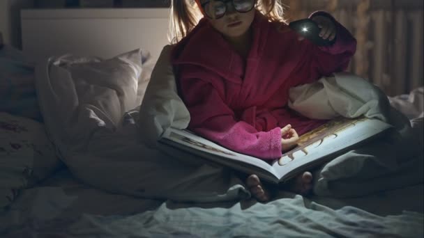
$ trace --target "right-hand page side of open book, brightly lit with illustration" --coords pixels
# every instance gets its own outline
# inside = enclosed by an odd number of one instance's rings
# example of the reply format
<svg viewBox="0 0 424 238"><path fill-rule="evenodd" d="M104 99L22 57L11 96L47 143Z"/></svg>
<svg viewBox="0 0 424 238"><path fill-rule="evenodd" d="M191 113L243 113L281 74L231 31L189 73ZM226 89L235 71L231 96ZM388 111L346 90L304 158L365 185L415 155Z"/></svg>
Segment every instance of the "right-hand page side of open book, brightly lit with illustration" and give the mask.
<svg viewBox="0 0 424 238"><path fill-rule="evenodd" d="M338 152L346 151L390 127L391 125L381 120L369 118L331 120L300 136L298 146L282 154L282 157L273 163L273 168L282 180L287 180L305 170L302 167L333 159Z"/></svg>

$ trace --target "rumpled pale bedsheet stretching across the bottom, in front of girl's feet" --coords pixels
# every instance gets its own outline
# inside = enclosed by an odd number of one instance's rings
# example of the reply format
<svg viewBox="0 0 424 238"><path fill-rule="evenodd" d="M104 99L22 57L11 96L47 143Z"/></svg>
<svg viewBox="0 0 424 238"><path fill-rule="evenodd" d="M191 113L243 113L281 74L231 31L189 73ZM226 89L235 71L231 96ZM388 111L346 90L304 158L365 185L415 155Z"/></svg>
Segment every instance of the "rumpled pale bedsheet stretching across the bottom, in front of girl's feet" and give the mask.
<svg viewBox="0 0 424 238"><path fill-rule="evenodd" d="M422 237L423 186L362 198L174 203L105 193L62 170L0 212L1 237ZM7 224L7 226L6 226Z"/></svg>

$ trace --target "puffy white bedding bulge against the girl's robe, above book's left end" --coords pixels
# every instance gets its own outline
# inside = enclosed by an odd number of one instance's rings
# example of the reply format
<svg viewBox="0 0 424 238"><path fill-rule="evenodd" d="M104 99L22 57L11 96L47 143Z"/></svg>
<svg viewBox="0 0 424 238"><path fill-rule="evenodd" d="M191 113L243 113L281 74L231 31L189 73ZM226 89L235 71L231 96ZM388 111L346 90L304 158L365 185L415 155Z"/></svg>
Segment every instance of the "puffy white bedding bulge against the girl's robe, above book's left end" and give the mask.
<svg viewBox="0 0 424 238"><path fill-rule="evenodd" d="M153 148L168 127L185 129L190 122L190 113L176 89L171 51L171 45L162 49L139 110L142 141Z"/></svg>

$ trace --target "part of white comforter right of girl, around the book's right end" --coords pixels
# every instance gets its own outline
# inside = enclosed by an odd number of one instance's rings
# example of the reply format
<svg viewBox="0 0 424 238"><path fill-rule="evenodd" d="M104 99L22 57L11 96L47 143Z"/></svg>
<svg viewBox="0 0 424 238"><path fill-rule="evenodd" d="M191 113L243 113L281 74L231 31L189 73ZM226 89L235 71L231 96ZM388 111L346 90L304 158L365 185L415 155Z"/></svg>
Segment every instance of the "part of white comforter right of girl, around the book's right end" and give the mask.
<svg viewBox="0 0 424 238"><path fill-rule="evenodd" d="M319 196L352 197L423 182L423 117L409 121L384 93L347 72L290 90L289 106L304 116L366 116L395 127L391 134L336 157L315 171Z"/></svg>

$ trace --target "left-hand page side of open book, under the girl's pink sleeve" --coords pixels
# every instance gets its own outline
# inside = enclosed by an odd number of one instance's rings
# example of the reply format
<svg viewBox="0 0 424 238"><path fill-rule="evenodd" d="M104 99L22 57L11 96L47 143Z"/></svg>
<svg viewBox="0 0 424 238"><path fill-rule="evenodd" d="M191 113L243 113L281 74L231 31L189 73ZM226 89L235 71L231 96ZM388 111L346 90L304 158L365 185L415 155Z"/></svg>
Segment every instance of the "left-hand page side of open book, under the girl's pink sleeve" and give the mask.
<svg viewBox="0 0 424 238"><path fill-rule="evenodd" d="M244 170L247 173L263 175L262 177L266 177L272 182L278 182L275 169L266 161L228 150L187 130L169 128L160 142L173 145L192 154L198 154L220 164Z"/></svg>

